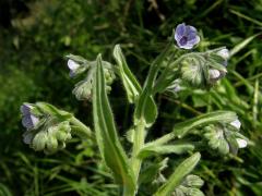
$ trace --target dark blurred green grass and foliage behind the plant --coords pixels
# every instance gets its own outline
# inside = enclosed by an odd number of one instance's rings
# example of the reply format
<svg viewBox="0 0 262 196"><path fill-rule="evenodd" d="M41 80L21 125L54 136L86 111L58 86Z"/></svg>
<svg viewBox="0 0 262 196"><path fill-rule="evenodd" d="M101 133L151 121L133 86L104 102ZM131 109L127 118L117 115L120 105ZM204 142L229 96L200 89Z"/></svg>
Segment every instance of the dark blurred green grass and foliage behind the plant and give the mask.
<svg viewBox="0 0 262 196"><path fill-rule="evenodd" d="M211 91L158 96L160 113L151 137L174 122L218 109L233 110L253 145L238 156L203 149L195 170L207 196L262 195L262 0L1 0L0 1L0 195L116 195L118 189L88 140L73 139L52 156L22 143L22 102L47 101L92 126L92 106L76 101L66 54L114 62L121 44L142 83L150 62L172 28L186 22L201 34L198 50L226 46L234 51L228 74ZM123 135L132 107L116 81L110 101ZM177 157L169 161L170 170ZM151 195L150 185L141 195Z"/></svg>

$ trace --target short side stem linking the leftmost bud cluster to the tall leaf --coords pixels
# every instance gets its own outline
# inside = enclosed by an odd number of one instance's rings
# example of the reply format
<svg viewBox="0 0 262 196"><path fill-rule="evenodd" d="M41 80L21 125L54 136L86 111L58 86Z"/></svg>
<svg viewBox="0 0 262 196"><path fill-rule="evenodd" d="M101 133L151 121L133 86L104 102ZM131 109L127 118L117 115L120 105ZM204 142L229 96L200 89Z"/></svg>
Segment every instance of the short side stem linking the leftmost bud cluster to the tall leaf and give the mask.
<svg viewBox="0 0 262 196"><path fill-rule="evenodd" d="M94 135L90 127L87 127L84 123L82 123L76 118L71 118L70 123L73 124L73 132L74 134L81 136L81 137L87 137L94 139Z"/></svg>

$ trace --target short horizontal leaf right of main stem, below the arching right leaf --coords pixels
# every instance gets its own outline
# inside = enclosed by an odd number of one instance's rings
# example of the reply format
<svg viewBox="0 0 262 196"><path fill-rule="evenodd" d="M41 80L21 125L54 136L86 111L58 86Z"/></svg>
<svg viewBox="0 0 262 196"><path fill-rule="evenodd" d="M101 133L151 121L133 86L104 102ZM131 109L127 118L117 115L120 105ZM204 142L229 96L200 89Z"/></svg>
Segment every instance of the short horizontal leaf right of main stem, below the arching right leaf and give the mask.
<svg viewBox="0 0 262 196"><path fill-rule="evenodd" d="M175 145L152 145L141 149L139 152L140 158L146 158L152 155L163 155L163 154L177 154L181 155L194 149L191 144L175 144Z"/></svg>

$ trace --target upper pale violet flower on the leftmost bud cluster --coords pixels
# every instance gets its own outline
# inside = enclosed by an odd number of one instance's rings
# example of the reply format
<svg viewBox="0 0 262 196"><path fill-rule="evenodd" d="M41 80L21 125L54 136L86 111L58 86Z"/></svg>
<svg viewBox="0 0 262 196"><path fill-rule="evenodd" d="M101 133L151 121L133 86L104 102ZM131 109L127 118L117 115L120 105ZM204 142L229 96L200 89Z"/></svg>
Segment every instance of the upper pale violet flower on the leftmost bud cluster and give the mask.
<svg viewBox="0 0 262 196"><path fill-rule="evenodd" d="M27 130L34 128L37 125L37 123L39 122L39 119L31 112L32 109L33 109L33 107L27 103L23 103L20 108L22 115L23 115L22 124Z"/></svg>

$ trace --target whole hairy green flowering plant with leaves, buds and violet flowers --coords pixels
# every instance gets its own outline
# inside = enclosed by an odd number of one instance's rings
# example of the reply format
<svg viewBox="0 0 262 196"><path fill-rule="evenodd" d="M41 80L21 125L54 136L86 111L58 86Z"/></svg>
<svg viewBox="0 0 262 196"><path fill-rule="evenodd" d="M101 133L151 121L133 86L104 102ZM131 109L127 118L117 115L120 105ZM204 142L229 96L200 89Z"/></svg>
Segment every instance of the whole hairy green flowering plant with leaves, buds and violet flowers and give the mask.
<svg viewBox="0 0 262 196"><path fill-rule="evenodd" d="M229 51L225 47L205 52L192 51L199 42L194 27L179 24L166 48L153 61L143 86L130 71L120 45L116 45L112 52L116 65L103 61L102 54L94 61L68 56L70 76L86 75L75 85L73 94L79 100L92 101L94 131L73 114L49 103L24 103L21 107L22 123L27 130L23 135L24 142L35 150L52 154L64 148L74 135L96 140L103 160L121 187L121 193L127 196L136 195L139 187L148 183L156 187L156 196L203 195L200 189L203 180L191 174L200 161L200 148L183 138L198 134L204 138L204 144L218 152L237 154L249 142L239 133L240 121L235 112L201 114L175 124L168 134L155 140L145 142L158 113L154 100L156 94L171 91L179 96L187 88L210 89L226 75ZM132 148L128 151L120 142L108 100L116 77L121 79L129 103L134 105L133 124L127 132ZM163 170L167 167L169 154L190 156L172 174L165 176ZM143 164L157 155L160 155L160 160Z"/></svg>

